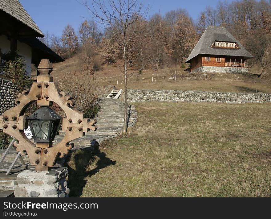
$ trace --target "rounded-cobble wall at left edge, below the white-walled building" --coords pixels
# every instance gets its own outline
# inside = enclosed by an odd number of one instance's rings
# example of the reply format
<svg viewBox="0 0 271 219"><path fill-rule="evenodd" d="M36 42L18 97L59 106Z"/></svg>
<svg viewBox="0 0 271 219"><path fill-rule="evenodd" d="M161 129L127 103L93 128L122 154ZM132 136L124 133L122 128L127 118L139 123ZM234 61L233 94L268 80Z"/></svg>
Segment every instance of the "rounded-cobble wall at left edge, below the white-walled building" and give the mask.
<svg viewBox="0 0 271 219"><path fill-rule="evenodd" d="M0 78L0 115L15 106L16 93L11 81Z"/></svg>

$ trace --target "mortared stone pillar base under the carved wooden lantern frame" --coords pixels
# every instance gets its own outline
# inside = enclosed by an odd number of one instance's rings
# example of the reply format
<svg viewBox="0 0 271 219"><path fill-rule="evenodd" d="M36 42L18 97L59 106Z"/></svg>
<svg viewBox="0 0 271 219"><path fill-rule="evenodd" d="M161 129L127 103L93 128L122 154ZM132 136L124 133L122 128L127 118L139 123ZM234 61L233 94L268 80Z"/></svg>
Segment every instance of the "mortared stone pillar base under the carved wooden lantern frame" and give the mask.
<svg viewBox="0 0 271 219"><path fill-rule="evenodd" d="M50 171L24 170L17 176L15 197L69 197L67 167L56 167Z"/></svg>

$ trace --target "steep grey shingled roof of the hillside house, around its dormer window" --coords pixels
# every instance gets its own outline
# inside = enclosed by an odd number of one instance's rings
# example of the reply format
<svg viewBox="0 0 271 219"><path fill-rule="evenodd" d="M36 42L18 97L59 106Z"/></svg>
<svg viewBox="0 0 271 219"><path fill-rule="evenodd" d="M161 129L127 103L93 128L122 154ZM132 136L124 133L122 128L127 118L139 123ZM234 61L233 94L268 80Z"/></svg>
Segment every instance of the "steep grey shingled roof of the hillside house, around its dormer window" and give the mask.
<svg viewBox="0 0 271 219"><path fill-rule="evenodd" d="M214 48L211 45L214 41L222 42L234 42L237 43L238 49L227 49L227 48ZM191 54L185 62L189 62L192 58L199 54L206 55L221 55L221 56L242 56L242 57L253 57L241 43L234 38L224 27L208 26L204 31L200 40L192 50Z"/></svg>

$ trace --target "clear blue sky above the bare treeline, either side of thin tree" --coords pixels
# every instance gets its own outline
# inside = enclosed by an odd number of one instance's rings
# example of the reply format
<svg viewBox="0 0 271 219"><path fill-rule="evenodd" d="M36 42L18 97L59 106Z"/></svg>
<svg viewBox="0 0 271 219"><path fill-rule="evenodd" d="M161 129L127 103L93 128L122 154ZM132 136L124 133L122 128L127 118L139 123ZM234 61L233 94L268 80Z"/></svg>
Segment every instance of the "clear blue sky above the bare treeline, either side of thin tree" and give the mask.
<svg viewBox="0 0 271 219"><path fill-rule="evenodd" d="M78 31L79 24L85 20L84 17L89 17L89 12L86 7L80 5L76 0L19 0L34 22L38 25L43 33L49 31L55 35L61 35L64 27L69 23ZM83 0L78 0L83 1ZM91 2L91 0L89 0ZM199 13L206 6L216 6L216 0L150 0L143 1L146 4L149 2L151 11L149 15L156 12L164 15L170 10L175 10L178 7L188 10L193 19L197 19ZM231 0L228 0L231 2Z"/></svg>

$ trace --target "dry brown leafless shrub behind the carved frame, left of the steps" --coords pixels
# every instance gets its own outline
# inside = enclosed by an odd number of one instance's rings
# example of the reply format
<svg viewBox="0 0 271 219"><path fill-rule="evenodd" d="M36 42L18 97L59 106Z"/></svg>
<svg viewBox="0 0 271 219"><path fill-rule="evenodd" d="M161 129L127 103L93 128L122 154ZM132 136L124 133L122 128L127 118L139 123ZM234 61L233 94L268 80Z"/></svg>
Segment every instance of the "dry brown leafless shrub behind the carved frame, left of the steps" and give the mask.
<svg viewBox="0 0 271 219"><path fill-rule="evenodd" d="M99 95L93 77L73 72L60 77L58 85L61 91L67 91L73 97L76 103L75 109L85 114L91 114L90 110L95 108Z"/></svg>

